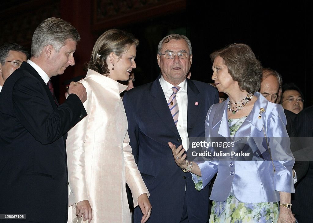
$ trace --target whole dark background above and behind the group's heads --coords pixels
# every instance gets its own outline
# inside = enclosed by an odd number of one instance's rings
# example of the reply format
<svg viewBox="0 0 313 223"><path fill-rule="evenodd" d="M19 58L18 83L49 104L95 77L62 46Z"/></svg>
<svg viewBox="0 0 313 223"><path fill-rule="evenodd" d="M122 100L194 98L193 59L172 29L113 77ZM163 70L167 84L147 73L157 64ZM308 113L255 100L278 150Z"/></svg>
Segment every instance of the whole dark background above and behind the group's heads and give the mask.
<svg viewBox="0 0 313 223"><path fill-rule="evenodd" d="M212 83L210 53L230 43L248 44L263 67L278 71L283 83L294 82L313 104L312 1L192 1L192 0L8 0L0 3L0 43L13 41L30 48L31 36L45 18L59 17L74 25L81 41L75 66L52 81L64 101L64 81L85 75L83 65L93 44L110 28L121 28L140 40L134 70L135 86L159 74L156 51L171 33L192 43L191 79Z"/></svg>

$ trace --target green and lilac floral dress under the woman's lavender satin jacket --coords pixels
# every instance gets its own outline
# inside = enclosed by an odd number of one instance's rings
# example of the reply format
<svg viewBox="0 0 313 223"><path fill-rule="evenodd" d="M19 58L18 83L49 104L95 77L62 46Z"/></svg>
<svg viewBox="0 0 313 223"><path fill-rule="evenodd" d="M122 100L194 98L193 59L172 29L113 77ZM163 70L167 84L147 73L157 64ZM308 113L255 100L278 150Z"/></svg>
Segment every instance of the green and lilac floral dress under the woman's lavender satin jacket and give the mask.
<svg viewBox="0 0 313 223"><path fill-rule="evenodd" d="M230 136L233 137L246 117L229 119ZM202 183L202 182L201 182ZM209 223L277 222L278 202L243 203L236 199L233 189L223 202L212 202Z"/></svg>

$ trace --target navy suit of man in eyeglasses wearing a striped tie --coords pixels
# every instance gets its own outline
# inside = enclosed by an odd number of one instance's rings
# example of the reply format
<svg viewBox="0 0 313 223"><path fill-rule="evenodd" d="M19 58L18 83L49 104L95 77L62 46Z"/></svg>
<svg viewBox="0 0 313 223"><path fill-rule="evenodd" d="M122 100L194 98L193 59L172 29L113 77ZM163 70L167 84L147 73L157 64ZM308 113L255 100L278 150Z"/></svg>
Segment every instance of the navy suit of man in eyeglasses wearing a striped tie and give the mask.
<svg viewBox="0 0 313 223"><path fill-rule="evenodd" d="M147 222L180 222L185 193L189 222L207 222L208 187L200 192L195 189L191 174L176 165L167 144L178 146L182 140L159 78L131 89L123 97L132 153L150 192L152 214ZM204 137L207 112L212 104L218 103L218 92L207 83L187 79L187 97L188 137ZM140 222L141 217L137 207L135 222Z"/></svg>

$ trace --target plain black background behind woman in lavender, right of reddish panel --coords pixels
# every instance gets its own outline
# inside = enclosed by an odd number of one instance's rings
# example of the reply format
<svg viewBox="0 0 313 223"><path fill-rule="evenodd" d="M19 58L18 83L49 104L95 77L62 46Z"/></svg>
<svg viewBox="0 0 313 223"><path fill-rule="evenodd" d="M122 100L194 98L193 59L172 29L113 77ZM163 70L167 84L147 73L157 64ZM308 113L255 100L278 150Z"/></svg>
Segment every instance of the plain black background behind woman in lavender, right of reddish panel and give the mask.
<svg viewBox="0 0 313 223"><path fill-rule="evenodd" d="M188 1L189 2L189 1ZM263 67L275 69L283 83L294 82L312 104L312 1L233 1L225 4L190 1L187 8L193 44L192 78L211 82L209 54L229 43L248 44ZM201 16L200 16L201 15ZM202 17L202 18L200 18Z"/></svg>

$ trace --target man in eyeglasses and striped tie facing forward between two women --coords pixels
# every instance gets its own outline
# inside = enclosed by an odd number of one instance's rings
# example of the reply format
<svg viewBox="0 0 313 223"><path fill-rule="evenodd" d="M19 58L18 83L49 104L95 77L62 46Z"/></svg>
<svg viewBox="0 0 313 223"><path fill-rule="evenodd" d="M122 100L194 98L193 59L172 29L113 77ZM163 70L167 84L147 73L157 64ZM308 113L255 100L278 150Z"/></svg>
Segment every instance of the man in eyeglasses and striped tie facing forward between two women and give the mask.
<svg viewBox="0 0 313 223"><path fill-rule="evenodd" d="M123 98L130 145L150 192L153 213L147 222L207 222L208 188L195 189L191 174L173 161L168 142L187 150L188 137L204 137L207 112L218 103L218 92L207 83L186 79L192 48L183 35L160 41L157 62L161 75ZM134 222L141 217L136 208Z"/></svg>

